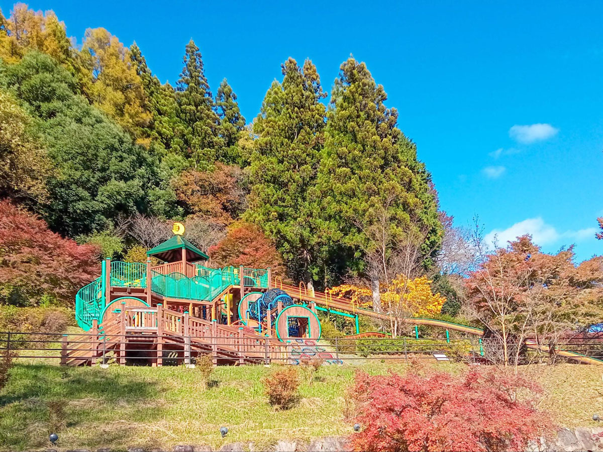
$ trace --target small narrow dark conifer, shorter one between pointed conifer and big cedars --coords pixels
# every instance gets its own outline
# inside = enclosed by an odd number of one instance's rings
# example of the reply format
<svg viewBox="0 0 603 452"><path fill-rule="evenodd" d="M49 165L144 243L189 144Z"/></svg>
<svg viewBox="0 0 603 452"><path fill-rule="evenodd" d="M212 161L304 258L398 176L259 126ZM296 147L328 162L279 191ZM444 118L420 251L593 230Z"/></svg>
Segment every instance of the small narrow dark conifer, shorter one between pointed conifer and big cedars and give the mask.
<svg viewBox="0 0 603 452"><path fill-rule="evenodd" d="M241 131L245 128L245 118L241 115L236 94L226 78L220 83L216 93L216 110L220 118L220 135L224 141L221 160L224 163L241 163L238 142Z"/></svg>

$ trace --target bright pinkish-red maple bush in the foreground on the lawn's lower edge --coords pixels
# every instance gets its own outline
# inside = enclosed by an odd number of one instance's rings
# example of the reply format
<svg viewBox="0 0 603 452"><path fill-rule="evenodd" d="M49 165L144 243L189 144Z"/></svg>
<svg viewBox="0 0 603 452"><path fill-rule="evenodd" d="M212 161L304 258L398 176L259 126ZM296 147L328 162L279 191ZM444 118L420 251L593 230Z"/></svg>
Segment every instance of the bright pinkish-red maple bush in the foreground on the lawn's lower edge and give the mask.
<svg viewBox="0 0 603 452"><path fill-rule="evenodd" d="M530 400L517 399L526 391L540 389L493 369L461 376L358 372L351 394L362 430L350 442L357 451L526 450L553 428Z"/></svg>

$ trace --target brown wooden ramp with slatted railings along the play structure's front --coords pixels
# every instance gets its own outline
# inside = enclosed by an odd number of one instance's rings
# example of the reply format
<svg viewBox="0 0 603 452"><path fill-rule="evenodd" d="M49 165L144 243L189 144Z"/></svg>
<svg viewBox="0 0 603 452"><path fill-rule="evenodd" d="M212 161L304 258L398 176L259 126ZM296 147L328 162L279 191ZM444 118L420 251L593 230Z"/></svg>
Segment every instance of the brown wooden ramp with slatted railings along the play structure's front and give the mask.
<svg viewBox="0 0 603 452"><path fill-rule="evenodd" d="M214 364L231 365L286 363L288 359L288 348L278 339L159 305L123 306L103 324L97 326L94 321L89 334L64 336L61 364L81 366L112 360L126 364L133 353L141 350L147 356L137 359L153 366L163 365L168 350L177 355L178 362L187 364L201 354L210 354Z"/></svg>

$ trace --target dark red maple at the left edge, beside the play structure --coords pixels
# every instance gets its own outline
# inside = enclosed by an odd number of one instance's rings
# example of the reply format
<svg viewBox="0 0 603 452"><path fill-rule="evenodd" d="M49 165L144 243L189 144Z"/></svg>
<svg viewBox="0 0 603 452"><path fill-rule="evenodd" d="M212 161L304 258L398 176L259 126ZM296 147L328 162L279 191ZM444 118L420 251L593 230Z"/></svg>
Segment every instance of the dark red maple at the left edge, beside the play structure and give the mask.
<svg viewBox="0 0 603 452"><path fill-rule="evenodd" d="M72 305L98 272L98 248L64 239L35 215L0 201L0 303L32 305L47 295Z"/></svg>

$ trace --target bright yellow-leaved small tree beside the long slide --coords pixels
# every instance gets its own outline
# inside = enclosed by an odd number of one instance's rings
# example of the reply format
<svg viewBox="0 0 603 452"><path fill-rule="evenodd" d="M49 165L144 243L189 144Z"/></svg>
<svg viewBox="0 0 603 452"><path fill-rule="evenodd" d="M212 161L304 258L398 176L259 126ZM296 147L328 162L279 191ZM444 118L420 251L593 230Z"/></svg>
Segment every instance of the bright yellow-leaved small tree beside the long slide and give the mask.
<svg viewBox="0 0 603 452"><path fill-rule="evenodd" d="M381 303L389 312L397 316L423 317L441 312L446 297L431 291L431 283L426 276L406 278L398 275L381 294Z"/></svg>

